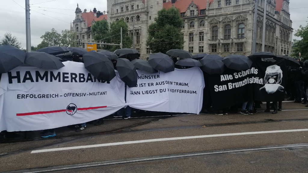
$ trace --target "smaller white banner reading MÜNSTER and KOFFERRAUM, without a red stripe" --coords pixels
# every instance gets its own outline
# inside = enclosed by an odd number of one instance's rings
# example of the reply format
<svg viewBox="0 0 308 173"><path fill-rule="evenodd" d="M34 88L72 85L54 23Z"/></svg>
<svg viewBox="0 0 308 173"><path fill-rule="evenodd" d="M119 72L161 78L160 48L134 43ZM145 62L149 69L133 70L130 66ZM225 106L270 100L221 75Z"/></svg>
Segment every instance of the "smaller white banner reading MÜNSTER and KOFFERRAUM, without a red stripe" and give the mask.
<svg viewBox="0 0 308 173"><path fill-rule="evenodd" d="M137 72L138 87L127 87L126 101L130 107L194 114L201 111L205 83L199 67L175 69L169 73Z"/></svg>

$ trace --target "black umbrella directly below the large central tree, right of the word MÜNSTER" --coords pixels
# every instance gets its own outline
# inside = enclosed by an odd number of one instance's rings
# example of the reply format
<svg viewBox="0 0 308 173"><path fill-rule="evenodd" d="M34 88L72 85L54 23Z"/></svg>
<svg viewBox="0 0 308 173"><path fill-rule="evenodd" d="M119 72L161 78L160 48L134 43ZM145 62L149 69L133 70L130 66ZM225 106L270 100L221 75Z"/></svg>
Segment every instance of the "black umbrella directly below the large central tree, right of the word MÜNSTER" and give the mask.
<svg viewBox="0 0 308 173"><path fill-rule="evenodd" d="M156 69L168 73L174 71L174 62L170 56L163 53L150 54L148 62Z"/></svg>

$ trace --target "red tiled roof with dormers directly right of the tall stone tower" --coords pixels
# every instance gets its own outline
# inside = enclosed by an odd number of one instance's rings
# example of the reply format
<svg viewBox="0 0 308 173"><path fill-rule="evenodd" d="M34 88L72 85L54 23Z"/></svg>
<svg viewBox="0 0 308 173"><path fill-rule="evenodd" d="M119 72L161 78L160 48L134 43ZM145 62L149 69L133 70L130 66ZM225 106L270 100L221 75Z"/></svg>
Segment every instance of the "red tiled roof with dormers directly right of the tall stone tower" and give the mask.
<svg viewBox="0 0 308 173"><path fill-rule="evenodd" d="M209 0L209 2L212 2L213 0ZM180 10L180 13L184 13L187 10L188 5L192 2L192 0L177 0L175 3L171 2L164 2L163 8L168 9L171 8L172 5L174 5L177 9ZM206 2L207 0L193 0L193 3L197 5L198 10L202 10L206 8Z"/></svg>

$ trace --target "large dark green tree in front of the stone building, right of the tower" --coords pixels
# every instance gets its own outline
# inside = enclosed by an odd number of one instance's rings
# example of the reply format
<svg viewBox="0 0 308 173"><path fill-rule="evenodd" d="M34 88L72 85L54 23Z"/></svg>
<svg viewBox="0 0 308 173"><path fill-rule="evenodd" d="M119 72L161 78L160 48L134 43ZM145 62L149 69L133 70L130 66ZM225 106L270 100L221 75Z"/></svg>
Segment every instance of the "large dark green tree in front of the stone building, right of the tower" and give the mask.
<svg viewBox="0 0 308 173"><path fill-rule="evenodd" d="M148 28L147 46L153 53L166 53L170 49L182 49L184 39L181 34L183 24L180 12L175 7L157 12L155 22Z"/></svg>

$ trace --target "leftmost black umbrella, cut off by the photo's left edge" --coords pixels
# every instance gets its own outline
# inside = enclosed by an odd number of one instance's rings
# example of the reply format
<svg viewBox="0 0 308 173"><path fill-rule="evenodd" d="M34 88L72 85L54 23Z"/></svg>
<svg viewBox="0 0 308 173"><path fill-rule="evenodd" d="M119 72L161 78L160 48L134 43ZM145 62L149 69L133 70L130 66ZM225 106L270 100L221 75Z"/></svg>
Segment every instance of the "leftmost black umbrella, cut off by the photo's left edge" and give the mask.
<svg viewBox="0 0 308 173"><path fill-rule="evenodd" d="M26 52L10 45L0 46L0 73L6 73L25 62Z"/></svg>

